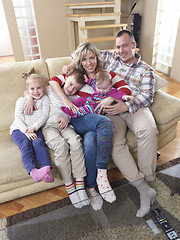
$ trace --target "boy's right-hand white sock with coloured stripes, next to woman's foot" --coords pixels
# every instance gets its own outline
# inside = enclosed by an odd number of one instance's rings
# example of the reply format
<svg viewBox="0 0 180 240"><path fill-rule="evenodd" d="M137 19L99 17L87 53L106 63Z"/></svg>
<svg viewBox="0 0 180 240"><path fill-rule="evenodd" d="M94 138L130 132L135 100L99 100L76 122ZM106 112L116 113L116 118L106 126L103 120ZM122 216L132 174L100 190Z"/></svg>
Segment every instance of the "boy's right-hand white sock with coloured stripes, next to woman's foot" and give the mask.
<svg viewBox="0 0 180 240"><path fill-rule="evenodd" d="M90 201L84 188L84 179L76 178L76 190L83 205L89 205Z"/></svg>

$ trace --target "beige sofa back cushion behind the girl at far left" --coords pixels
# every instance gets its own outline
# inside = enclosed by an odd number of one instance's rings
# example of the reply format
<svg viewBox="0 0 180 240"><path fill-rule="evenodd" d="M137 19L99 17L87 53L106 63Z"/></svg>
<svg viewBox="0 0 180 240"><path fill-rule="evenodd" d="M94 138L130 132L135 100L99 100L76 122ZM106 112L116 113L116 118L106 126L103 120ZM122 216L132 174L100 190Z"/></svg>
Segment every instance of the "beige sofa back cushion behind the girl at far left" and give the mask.
<svg viewBox="0 0 180 240"><path fill-rule="evenodd" d="M48 82L49 75L43 59L0 64L0 131L9 129L14 120L16 100L23 96L25 80L21 73L28 72L32 67Z"/></svg>

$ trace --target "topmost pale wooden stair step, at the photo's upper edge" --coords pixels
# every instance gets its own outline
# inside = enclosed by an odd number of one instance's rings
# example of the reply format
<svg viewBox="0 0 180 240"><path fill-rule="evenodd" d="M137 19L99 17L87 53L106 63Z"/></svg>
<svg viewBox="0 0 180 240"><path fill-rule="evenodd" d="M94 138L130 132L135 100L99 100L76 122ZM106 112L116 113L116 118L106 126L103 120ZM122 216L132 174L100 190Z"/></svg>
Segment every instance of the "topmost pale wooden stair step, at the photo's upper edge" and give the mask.
<svg viewBox="0 0 180 240"><path fill-rule="evenodd" d="M114 1L108 2L90 2L90 3L68 3L65 4L66 7L70 9L80 9L80 8L106 8L113 7Z"/></svg>

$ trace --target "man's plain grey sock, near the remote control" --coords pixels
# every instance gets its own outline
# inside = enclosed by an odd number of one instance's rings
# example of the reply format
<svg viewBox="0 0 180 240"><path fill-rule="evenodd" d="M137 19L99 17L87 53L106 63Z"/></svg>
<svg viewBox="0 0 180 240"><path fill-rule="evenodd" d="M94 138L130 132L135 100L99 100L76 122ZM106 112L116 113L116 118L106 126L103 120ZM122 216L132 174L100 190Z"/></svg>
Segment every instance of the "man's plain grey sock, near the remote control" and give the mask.
<svg viewBox="0 0 180 240"><path fill-rule="evenodd" d="M136 188L140 193L140 208L137 211L136 217L144 217L150 211L150 205L155 200L156 191L149 187L145 181Z"/></svg>

